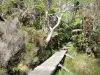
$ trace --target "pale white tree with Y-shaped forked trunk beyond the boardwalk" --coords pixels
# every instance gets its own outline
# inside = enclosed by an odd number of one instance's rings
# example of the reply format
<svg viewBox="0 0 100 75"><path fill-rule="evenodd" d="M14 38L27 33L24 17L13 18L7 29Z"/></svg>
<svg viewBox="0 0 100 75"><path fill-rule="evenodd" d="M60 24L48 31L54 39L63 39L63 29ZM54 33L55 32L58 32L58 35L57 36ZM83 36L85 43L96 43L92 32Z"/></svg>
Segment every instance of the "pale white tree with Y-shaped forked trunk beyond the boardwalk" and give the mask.
<svg viewBox="0 0 100 75"><path fill-rule="evenodd" d="M48 4L47 8L50 8L50 0L47 1L47 4ZM57 16L58 21L57 21L57 23L56 23L53 27L51 27L50 24L49 24L48 9L46 10L46 20L47 20L47 21L46 21L46 25L48 26L48 28L49 28L49 30L50 30L50 31L48 32L47 38L46 38L46 40L45 40L45 43L46 43L46 44L49 43L49 41L50 41L50 39L51 39L51 37L52 37L52 34L53 34L54 30L59 26L59 24L60 24L60 22L61 22L61 17L62 17L61 8L60 8L61 0L59 0L58 4L59 4L58 13L60 14L60 16Z"/></svg>

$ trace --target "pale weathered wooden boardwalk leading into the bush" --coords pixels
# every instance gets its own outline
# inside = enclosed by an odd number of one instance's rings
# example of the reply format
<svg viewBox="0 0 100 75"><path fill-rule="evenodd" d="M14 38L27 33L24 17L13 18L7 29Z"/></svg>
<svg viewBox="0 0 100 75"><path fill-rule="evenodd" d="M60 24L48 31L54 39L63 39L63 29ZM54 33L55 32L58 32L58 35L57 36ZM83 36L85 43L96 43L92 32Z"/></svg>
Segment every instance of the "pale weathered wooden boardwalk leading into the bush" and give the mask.
<svg viewBox="0 0 100 75"><path fill-rule="evenodd" d="M53 54L44 63L37 66L33 71L29 72L28 75L52 75L56 70L58 64L62 61L67 50L60 50Z"/></svg>

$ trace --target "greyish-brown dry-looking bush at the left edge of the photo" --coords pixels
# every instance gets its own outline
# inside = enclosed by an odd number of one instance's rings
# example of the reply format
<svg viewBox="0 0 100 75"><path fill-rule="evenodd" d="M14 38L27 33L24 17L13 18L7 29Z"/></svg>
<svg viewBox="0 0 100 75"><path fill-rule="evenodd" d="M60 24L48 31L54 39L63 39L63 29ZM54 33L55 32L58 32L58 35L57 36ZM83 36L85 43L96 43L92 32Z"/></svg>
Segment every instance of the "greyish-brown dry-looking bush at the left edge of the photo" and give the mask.
<svg viewBox="0 0 100 75"><path fill-rule="evenodd" d="M22 50L23 46L24 35L18 19L0 22L0 68L6 67L10 59Z"/></svg>

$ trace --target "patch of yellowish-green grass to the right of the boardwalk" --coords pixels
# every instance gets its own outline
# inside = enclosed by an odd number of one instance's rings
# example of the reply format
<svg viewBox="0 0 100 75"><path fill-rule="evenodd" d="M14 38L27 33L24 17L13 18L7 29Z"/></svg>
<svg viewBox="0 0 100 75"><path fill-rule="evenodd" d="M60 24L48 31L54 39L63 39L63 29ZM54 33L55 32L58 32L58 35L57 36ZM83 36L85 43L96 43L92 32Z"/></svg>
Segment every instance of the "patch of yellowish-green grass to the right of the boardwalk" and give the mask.
<svg viewBox="0 0 100 75"><path fill-rule="evenodd" d="M100 59L86 57L84 53L77 53L76 49L70 46L69 54L74 57L65 58L64 66L70 70L73 75L100 75ZM60 69L55 75L71 75L63 69Z"/></svg>

